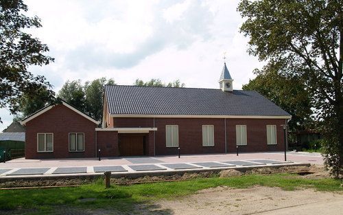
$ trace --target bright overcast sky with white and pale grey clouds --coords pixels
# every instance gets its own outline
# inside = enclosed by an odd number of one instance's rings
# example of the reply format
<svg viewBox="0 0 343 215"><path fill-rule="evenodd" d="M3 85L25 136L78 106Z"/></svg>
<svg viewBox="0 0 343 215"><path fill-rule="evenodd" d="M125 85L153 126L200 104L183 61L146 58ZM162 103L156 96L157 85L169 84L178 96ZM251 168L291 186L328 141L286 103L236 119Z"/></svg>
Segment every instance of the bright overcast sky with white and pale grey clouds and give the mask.
<svg viewBox="0 0 343 215"><path fill-rule="evenodd" d="M246 52L236 0L24 2L43 25L30 32L55 58L29 71L47 77L56 92L67 80L100 77L117 84L180 79L186 87L216 89L224 52L233 87L241 89L263 65ZM2 131L13 116L4 109L0 115Z"/></svg>

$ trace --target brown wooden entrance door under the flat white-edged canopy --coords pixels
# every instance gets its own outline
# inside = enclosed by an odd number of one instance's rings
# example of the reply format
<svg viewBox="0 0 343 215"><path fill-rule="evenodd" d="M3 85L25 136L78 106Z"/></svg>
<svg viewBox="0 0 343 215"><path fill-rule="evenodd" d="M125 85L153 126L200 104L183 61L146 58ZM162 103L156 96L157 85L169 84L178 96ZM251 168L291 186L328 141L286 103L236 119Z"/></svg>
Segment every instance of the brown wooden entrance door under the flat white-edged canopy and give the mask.
<svg viewBox="0 0 343 215"><path fill-rule="evenodd" d="M119 135L120 156L142 156L145 155L144 135Z"/></svg>

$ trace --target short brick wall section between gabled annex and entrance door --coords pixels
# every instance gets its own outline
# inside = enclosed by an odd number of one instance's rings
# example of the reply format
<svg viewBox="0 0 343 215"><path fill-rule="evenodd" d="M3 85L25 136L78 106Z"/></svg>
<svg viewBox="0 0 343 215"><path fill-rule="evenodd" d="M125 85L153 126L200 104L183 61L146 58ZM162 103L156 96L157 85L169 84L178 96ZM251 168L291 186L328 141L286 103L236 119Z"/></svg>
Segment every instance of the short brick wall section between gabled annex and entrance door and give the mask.
<svg viewBox="0 0 343 215"><path fill-rule="evenodd" d="M99 149L102 157L118 156L118 132L97 131L97 150Z"/></svg>

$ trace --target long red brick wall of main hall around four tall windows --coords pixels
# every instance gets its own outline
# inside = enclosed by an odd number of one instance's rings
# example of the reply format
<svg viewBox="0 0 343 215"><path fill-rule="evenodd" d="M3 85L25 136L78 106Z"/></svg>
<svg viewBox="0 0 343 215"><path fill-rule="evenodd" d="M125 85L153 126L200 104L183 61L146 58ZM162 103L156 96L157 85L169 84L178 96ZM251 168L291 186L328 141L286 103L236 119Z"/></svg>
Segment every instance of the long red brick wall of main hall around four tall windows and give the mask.
<svg viewBox="0 0 343 215"><path fill-rule="evenodd" d="M224 153L224 119L204 118L155 118L156 155L177 155L178 148L165 146L165 126L178 125L181 154ZM214 126L215 146L202 146L202 125ZM285 120L268 119L226 119L227 152L236 152L236 125L247 126L247 146L239 146L241 152L262 152L283 150L283 128ZM276 125L276 145L267 145L266 125ZM152 127L153 118L116 118L115 127ZM153 140L153 139L152 139ZM151 145L150 145L151 146ZM150 154L152 149L150 149Z"/></svg>

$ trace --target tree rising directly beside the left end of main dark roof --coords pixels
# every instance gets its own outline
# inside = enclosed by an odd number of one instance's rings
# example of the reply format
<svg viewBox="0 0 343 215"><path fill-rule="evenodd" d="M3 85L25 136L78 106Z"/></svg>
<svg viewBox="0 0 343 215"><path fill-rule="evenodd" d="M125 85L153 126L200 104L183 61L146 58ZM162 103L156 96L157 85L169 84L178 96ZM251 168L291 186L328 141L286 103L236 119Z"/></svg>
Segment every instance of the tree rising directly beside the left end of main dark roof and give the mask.
<svg viewBox="0 0 343 215"><path fill-rule="evenodd" d="M84 84L84 94L86 95L86 113L91 115L95 120L102 120L102 104L104 85L115 85L115 80L98 78Z"/></svg>

